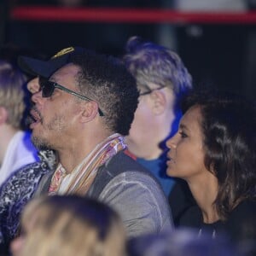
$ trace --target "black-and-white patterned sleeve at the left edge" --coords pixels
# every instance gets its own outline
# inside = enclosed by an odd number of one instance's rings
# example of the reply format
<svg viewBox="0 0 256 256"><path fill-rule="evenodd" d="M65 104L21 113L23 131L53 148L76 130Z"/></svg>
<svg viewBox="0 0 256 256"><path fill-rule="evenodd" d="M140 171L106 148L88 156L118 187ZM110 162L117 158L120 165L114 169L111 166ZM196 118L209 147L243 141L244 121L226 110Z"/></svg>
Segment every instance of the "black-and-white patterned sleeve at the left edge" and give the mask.
<svg viewBox="0 0 256 256"><path fill-rule="evenodd" d="M41 177L51 170L49 166L48 160L41 159L20 168L3 183L0 188L0 246L9 244L17 234L20 212L32 199Z"/></svg>

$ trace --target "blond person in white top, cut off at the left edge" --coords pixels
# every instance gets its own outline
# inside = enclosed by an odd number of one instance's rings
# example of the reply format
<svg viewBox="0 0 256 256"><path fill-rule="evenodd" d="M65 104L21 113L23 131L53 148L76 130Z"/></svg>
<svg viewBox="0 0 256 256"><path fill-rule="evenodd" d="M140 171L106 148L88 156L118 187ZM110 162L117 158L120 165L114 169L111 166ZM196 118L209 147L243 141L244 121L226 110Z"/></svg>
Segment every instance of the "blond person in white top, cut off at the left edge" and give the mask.
<svg viewBox="0 0 256 256"><path fill-rule="evenodd" d="M22 131L26 77L15 65L0 60L0 186L22 166L38 160L30 131Z"/></svg>

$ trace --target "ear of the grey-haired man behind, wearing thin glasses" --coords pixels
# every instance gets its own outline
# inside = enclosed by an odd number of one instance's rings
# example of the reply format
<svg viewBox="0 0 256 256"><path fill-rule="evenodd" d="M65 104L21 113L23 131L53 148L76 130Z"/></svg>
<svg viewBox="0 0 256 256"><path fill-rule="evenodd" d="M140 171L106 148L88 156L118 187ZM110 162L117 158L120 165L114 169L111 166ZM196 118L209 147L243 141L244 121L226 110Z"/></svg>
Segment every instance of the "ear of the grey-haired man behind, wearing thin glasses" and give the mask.
<svg viewBox="0 0 256 256"><path fill-rule="evenodd" d="M167 108L167 99L163 91L154 90L150 94L152 111L155 115L163 113Z"/></svg>

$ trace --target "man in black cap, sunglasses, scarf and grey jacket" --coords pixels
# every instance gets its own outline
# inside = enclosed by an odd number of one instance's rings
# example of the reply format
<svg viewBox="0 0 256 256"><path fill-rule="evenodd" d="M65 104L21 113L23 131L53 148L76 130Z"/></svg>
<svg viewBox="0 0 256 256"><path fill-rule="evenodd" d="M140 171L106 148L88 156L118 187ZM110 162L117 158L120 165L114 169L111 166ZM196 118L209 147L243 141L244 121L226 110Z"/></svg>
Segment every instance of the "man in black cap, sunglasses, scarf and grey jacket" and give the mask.
<svg viewBox="0 0 256 256"><path fill-rule="evenodd" d="M38 76L40 84L32 95L32 141L59 157L36 194L105 201L119 212L128 236L171 229L160 185L126 154L123 136L130 130L138 91L125 66L71 47L49 61L20 57L20 67Z"/></svg>

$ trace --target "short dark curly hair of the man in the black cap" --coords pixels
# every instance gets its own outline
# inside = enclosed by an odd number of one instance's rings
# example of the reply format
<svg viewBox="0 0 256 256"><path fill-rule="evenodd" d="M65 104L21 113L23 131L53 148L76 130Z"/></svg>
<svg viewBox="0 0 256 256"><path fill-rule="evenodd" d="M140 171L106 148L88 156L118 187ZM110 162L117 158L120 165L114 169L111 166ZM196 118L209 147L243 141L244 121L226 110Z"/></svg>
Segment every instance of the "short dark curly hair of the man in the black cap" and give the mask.
<svg viewBox="0 0 256 256"><path fill-rule="evenodd" d="M135 79L119 59L84 50L70 62L80 67L77 77L81 94L99 103L109 131L127 135L137 108Z"/></svg>

